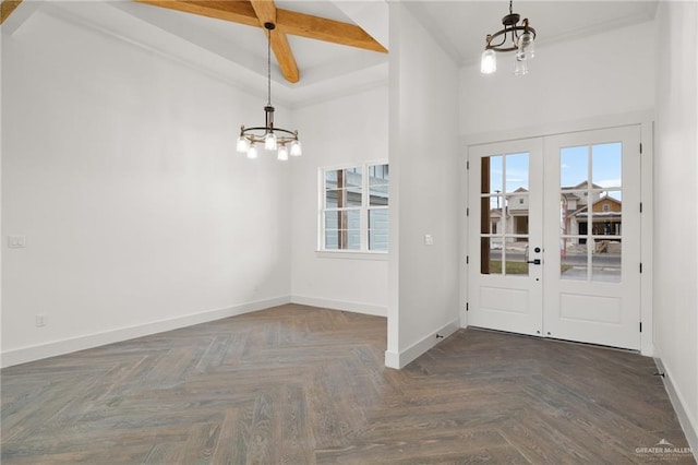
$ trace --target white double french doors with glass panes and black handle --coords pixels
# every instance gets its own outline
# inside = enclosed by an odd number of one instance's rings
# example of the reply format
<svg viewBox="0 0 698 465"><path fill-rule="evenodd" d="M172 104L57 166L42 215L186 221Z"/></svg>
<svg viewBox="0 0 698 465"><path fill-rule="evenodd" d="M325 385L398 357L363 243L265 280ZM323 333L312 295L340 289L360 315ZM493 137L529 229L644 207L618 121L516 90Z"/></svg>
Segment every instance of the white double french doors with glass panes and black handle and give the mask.
<svg viewBox="0 0 698 465"><path fill-rule="evenodd" d="M640 348L640 127L469 148L468 324Z"/></svg>

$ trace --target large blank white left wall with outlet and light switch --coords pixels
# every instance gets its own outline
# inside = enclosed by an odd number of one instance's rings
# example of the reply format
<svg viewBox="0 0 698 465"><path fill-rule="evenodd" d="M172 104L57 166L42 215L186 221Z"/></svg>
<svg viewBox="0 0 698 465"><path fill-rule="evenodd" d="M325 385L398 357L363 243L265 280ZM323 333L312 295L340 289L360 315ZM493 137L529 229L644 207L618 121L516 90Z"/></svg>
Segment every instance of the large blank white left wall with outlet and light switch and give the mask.
<svg viewBox="0 0 698 465"><path fill-rule="evenodd" d="M290 170L234 152L257 98L50 12L1 52L3 366L289 300Z"/></svg>

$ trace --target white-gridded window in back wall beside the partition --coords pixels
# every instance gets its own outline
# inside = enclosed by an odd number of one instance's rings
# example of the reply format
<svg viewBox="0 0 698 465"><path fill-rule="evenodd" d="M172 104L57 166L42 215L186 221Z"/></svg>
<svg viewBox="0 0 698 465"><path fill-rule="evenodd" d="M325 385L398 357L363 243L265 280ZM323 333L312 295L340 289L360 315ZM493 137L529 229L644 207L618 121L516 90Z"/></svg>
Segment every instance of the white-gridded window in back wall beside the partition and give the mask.
<svg viewBox="0 0 698 465"><path fill-rule="evenodd" d="M321 170L322 250L388 250L388 165Z"/></svg>

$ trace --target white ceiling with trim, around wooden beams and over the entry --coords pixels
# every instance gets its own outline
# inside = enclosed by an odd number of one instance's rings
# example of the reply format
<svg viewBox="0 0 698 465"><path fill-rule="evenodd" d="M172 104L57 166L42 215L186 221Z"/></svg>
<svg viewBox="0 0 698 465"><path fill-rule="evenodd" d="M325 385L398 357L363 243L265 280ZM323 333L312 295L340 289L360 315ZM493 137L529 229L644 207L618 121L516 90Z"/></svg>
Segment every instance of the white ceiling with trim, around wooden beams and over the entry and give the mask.
<svg viewBox="0 0 698 465"><path fill-rule="evenodd" d="M402 0L436 41L459 64L476 62L484 37L502 27L508 1ZM31 7L29 7L31 3ZM277 0L278 8L358 24L386 48L388 3L385 0ZM266 94L266 38L263 29L131 1L24 1L26 10L77 21L89 27L163 53L240 86ZM657 0L534 1L517 0L514 12L528 17L539 46L649 21ZM20 9L17 9L20 11ZM24 21L15 12L5 22ZM17 27L16 25L14 27ZM387 55L289 36L301 80L289 84L273 63L273 102L300 106L349 94L387 80ZM641 46L638 43L638 46ZM539 51L539 56L541 52Z"/></svg>

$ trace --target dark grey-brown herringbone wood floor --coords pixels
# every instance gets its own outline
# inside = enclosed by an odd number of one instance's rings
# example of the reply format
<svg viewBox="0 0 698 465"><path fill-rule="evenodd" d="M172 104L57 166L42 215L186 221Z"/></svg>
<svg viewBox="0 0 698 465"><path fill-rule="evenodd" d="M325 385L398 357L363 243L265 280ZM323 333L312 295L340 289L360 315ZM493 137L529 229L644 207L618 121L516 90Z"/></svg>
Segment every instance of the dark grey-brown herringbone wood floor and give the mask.
<svg viewBox="0 0 698 465"><path fill-rule="evenodd" d="M10 367L2 464L695 463L665 452L688 444L651 358L470 329L392 370L385 347L383 318L288 305Z"/></svg>

